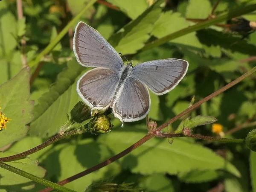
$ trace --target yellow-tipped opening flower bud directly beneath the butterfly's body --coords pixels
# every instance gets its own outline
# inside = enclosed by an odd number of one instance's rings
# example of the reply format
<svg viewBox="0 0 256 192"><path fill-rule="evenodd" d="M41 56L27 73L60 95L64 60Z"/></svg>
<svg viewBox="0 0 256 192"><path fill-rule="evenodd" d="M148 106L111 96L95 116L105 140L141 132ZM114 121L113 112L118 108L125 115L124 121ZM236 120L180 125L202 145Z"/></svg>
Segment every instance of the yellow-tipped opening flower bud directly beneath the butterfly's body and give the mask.
<svg viewBox="0 0 256 192"><path fill-rule="evenodd" d="M103 134L111 131L111 118L105 114L96 114L89 122L89 130L92 134Z"/></svg>

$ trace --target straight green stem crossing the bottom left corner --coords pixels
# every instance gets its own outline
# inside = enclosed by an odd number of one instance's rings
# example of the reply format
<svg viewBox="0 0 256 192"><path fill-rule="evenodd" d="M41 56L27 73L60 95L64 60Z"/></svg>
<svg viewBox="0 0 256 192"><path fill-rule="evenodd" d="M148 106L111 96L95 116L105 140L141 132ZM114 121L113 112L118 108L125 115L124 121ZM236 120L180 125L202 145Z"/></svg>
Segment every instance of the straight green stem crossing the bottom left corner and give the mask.
<svg viewBox="0 0 256 192"><path fill-rule="evenodd" d="M44 186L51 187L52 189L55 189L55 190L60 191L60 192L76 192L76 191L68 189L64 186L60 186L56 183L52 183L49 180L45 180L45 179L42 179L42 178L37 177L35 175L32 175L30 173L24 172L20 169L17 169L15 167L10 166L10 165L8 165L6 163L3 163L3 162L0 162L0 167L3 168L3 169L9 170L10 172L16 173L17 175L20 175L20 176L26 177L30 180L33 180L36 183L42 184Z"/></svg>

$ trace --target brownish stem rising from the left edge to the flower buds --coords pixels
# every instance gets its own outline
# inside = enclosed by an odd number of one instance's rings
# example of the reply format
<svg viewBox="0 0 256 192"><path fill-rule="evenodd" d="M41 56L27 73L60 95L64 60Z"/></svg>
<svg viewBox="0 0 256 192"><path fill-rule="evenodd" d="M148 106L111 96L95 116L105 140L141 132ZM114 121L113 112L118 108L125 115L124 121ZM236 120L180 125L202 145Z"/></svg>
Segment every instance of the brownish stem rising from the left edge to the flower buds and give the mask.
<svg viewBox="0 0 256 192"><path fill-rule="evenodd" d="M9 157L1 157L0 158L0 162L6 162L6 161L13 161L13 160L18 160L18 159L21 159L23 157L26 157L30 154L33 154L43 148L46 148L47 146L49 146L50 144L52 143L55 143L61 139L64 139L66 137L70 137L72 135L76 135L76 134L81 134L81 133L84 133L86 130L82 129L82 128L78 128L78 129L74 129L72 131L68 131L66 133L64 133L63 135L55 135L54 137L50 138L49 140L45 141L44 143L32 148L32 149L29 149L27 151L24 151L22 153L19 153L19 154L15 154L15 155L12 155L12 156L9 156Z"/></svg>

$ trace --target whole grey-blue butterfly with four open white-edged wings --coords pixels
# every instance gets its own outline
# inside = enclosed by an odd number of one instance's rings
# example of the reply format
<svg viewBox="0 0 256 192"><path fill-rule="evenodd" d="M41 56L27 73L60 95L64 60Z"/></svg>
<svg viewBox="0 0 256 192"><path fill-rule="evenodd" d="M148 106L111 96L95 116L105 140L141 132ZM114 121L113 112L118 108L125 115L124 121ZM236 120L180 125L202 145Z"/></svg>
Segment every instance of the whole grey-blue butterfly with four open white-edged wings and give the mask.
<svg viewBox="0 0 256 192"><path fill-rule="evenodd" d="M84 67L96 67L77 82L77 92L91 110L112 109L122 122L145 118L150 110L148 88L157 95L172 90L185 76L188 62L181 59L147 61L132 67L95 29L84 22L76 26L73 51Z"/></svg>

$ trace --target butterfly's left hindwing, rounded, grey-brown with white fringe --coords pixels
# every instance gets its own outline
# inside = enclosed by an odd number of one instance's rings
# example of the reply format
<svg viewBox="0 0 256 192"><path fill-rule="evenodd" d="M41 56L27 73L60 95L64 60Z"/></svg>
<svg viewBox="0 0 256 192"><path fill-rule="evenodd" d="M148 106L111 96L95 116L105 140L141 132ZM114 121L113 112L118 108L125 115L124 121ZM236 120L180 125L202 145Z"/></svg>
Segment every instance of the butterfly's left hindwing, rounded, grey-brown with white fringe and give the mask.
<svg viewBox="0 0 256 192"><path fill-rule="evenodd" d="M118 81L118 72L98 67L81 76L77 82L77 92L92 110L105 110Z"/></svg>

